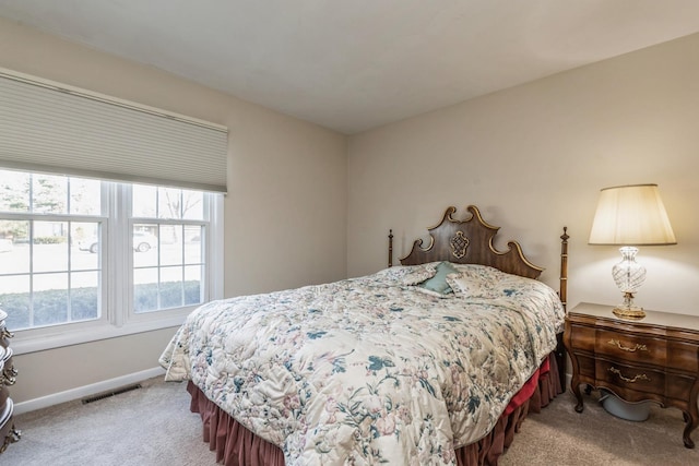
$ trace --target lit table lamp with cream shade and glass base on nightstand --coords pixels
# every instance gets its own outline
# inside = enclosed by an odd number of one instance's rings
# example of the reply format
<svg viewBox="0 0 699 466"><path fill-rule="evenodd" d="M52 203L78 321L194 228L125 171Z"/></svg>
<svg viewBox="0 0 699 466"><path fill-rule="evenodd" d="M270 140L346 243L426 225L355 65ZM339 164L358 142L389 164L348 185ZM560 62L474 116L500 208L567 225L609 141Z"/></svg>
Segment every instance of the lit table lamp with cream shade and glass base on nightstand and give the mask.
<svg viewBox="0 0 699 466"><path fill-rule="evenodd" d="M657 184L603 189L589 243L621 246L623 259L612 268L612 276L624 294L624 303L613 312L624 319L642 319L643 309L633 304L633 295L645 280L645 267L636 262L637 246L677 243Z"/></svg>

